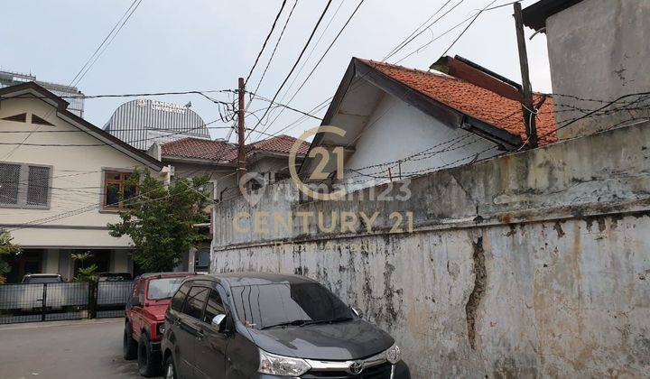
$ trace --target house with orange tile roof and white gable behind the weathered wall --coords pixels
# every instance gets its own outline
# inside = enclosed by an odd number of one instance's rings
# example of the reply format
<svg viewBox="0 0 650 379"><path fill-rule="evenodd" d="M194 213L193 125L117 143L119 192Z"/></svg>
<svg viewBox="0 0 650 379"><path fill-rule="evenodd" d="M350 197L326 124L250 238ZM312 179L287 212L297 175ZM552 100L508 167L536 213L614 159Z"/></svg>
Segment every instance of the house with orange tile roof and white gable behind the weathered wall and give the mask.
<svg viewBox="0 0 650 379"><path fill-rule="evenodd" d="M527 136L519 85L460 57L445 58L441 66L463 79L353 58L321 124L345 134L319 132L310 147L342 147L343 174L334 159L323 173L354 190L521 149ZM535 94L534 101L540 143L552 143L553 99ZM314 181L315 156L302 163L303 181Z"/></svg>

